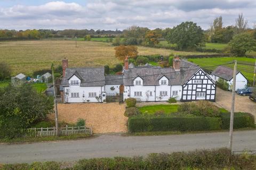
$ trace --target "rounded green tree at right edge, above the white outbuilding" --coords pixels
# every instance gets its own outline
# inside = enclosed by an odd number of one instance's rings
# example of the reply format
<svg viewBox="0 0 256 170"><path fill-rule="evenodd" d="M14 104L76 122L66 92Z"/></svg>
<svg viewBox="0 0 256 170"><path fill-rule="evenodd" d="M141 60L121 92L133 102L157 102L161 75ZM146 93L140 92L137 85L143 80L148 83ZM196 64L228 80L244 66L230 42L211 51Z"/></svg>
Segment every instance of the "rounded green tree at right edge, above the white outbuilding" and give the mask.
<svg viewBox="0 0 256 170"><path fill-rule="evenodd" d="M244 56L246 52L256 50L256 40L249 33L240 33L233 37L228 43L231 53L237 56Z"/></svg>

